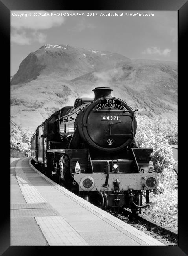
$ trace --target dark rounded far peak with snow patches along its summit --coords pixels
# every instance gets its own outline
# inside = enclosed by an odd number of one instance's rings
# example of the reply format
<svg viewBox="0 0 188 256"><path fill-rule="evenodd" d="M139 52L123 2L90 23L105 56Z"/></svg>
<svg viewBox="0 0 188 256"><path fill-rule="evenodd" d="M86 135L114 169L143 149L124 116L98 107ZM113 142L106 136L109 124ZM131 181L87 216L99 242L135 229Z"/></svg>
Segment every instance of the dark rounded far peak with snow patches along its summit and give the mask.
<svg viewBox="0 0 188 256"><path fill-rule="evenodd" d="M104 66L111 67L120 60L129 58L111 52L48 44L36 52L31 52L21 62L11 84L26 83L40 75L49 75L49 72L70 80L93 70L100 70Z"/></svg>

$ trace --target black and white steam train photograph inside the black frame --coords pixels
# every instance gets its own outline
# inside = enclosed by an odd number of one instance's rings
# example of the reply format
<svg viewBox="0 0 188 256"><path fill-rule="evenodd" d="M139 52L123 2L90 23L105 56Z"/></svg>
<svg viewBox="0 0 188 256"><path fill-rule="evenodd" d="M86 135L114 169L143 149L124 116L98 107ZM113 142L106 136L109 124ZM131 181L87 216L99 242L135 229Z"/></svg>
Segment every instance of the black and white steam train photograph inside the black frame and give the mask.
<svg viewBox="0 0 188 256"><path fill-rule="evenodd" d="M10 246L178 246L178 11L10 11Z"/></svg>

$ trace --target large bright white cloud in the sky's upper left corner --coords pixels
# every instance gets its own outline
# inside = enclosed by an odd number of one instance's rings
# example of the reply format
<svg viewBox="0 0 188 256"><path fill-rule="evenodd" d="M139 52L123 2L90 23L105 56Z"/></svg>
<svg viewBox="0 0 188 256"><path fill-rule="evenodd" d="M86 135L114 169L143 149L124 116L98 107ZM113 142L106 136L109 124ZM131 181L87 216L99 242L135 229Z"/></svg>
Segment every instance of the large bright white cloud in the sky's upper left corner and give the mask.
<svg viewBox="0 0 188 256"><path fill-rule="evenodd" d="M31 16L26 15L27 13L31 13ZM51 16L47 11L11 11L11 42L18 45L31 45L34 42L43 44L47 35L38 30L61 26L64 21L65 17Z"/></svg>

